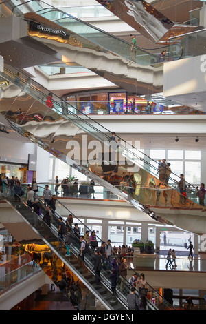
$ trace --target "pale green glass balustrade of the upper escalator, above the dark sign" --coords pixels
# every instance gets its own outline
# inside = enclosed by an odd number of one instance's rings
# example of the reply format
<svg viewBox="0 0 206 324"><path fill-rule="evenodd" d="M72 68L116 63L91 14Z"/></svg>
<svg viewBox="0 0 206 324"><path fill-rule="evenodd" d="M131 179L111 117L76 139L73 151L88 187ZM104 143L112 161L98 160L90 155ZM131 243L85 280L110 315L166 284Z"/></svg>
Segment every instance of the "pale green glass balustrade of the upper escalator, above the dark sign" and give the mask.
<svg viewBox="0 0 206 324"><path fill-rule="evenodd" d="M95 28L94 26L89 25L89 23L85 23L84 21L81 21L80 19L71 16L71 14L60 10L59 8L49 6L43 1L41 1L41 3L44 7L47 6L47 8L36 10L35 3L36 1L33 0L27 1L23 4L21 3L14 7L13 14L15 14L18 17L24 17L25 12L28 12L26 4L29 4L29 6L33 8L34 12L36 12L36 14L41 15L41 17L45 17L46 19L57 23L59 26L67 28L67 30L74 32L75 34L79 34L84 39L87 39L92 43L96 43L102 48L109 50L110 52L118 54L119 56L124 57L125 59L131 59L130 43L123 41L122 39L119 39L117 37L114 37L113 35L108 34L103 30ZM23 12L23 14L19 14L19 11ZM138 46L136 56L137 63L141 65L159 63L159 55L163 50L166 50L167 52L165 56L165 61L172 61L174 59L181 58L181 47L176 44L170 45L170 48L168 48L168 46L165 46L158 49L148 50L140 48Z"/></svg>

